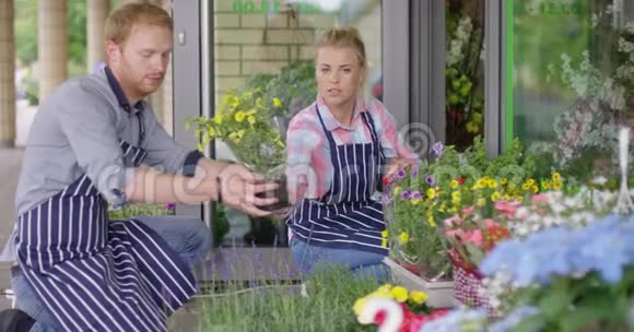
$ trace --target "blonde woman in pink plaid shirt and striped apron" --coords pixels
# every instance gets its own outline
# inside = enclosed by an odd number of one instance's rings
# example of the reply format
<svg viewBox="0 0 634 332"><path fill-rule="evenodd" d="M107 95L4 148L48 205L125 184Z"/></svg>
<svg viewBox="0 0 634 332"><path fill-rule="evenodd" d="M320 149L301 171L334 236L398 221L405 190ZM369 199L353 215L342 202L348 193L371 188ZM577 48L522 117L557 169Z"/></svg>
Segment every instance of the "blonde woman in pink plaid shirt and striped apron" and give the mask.
<svg viewBox="0 0 634 332"><path fill-rule="evenodd" d="M289 126L287 178L295 202L286 220L290 247L304 273L336 264L384 281L388 253L383 204L373 200L385 165L416 163L398 144L392 116L364 99L365 46L353 27L334 28L315 45L318 95Z"/></svg>

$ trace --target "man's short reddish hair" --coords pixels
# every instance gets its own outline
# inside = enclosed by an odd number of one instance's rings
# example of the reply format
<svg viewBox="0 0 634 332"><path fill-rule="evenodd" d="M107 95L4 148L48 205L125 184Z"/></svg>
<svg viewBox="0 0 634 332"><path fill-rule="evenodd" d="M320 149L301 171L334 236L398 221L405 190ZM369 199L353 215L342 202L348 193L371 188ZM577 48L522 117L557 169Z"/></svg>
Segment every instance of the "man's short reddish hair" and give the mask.
<svg viewBox="0 0 634 332"><path fill-rule="evenodd" d="M128 3L114 10L106 19L106 40L113 40L117 45L126 43L136 24L174 31L172 17L162 8L150 3Z"/></svg>

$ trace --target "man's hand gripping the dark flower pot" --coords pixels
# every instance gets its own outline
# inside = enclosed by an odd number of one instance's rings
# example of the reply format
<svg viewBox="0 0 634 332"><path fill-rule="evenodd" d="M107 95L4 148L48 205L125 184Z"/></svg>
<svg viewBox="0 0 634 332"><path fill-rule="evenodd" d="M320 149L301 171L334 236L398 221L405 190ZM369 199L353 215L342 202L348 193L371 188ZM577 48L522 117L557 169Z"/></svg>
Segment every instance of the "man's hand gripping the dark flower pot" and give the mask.
<svg viewBox="0 0 634 332"><path fill-rule="evenodd" d="M262 176L250 173L247 168L237 164L226 166L218 178L222 204L242 210L254 216L271 215L271 212L260 210L258 206L274 204L278 199L261 199L257 194L275 190L278 188L277 183L262 183Z"/></svg>

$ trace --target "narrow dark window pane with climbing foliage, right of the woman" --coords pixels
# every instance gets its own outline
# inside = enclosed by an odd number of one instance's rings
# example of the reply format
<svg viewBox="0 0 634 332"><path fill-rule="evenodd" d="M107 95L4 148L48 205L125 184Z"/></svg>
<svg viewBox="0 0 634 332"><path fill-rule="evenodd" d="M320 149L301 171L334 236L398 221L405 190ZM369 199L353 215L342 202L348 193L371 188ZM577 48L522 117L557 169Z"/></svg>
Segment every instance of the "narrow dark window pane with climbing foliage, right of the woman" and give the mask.
<svg viewBox="0 0 634 332"><path fill-rule="evenodd" d="M445 3L445 138L462 151L483 137L484 0Z"/></svg>

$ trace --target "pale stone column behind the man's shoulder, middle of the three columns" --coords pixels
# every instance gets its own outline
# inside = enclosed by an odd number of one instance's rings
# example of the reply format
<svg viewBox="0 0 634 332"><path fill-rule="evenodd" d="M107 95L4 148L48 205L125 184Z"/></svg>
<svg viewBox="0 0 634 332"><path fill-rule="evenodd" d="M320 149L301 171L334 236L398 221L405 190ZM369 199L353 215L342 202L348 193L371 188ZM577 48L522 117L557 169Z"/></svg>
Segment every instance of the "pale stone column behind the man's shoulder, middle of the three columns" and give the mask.
<svg viewBox="0 0 634 332"><path fill-rule="evenodd" d="M67 1L38 1L39 103L67 80Z"/></svg>

